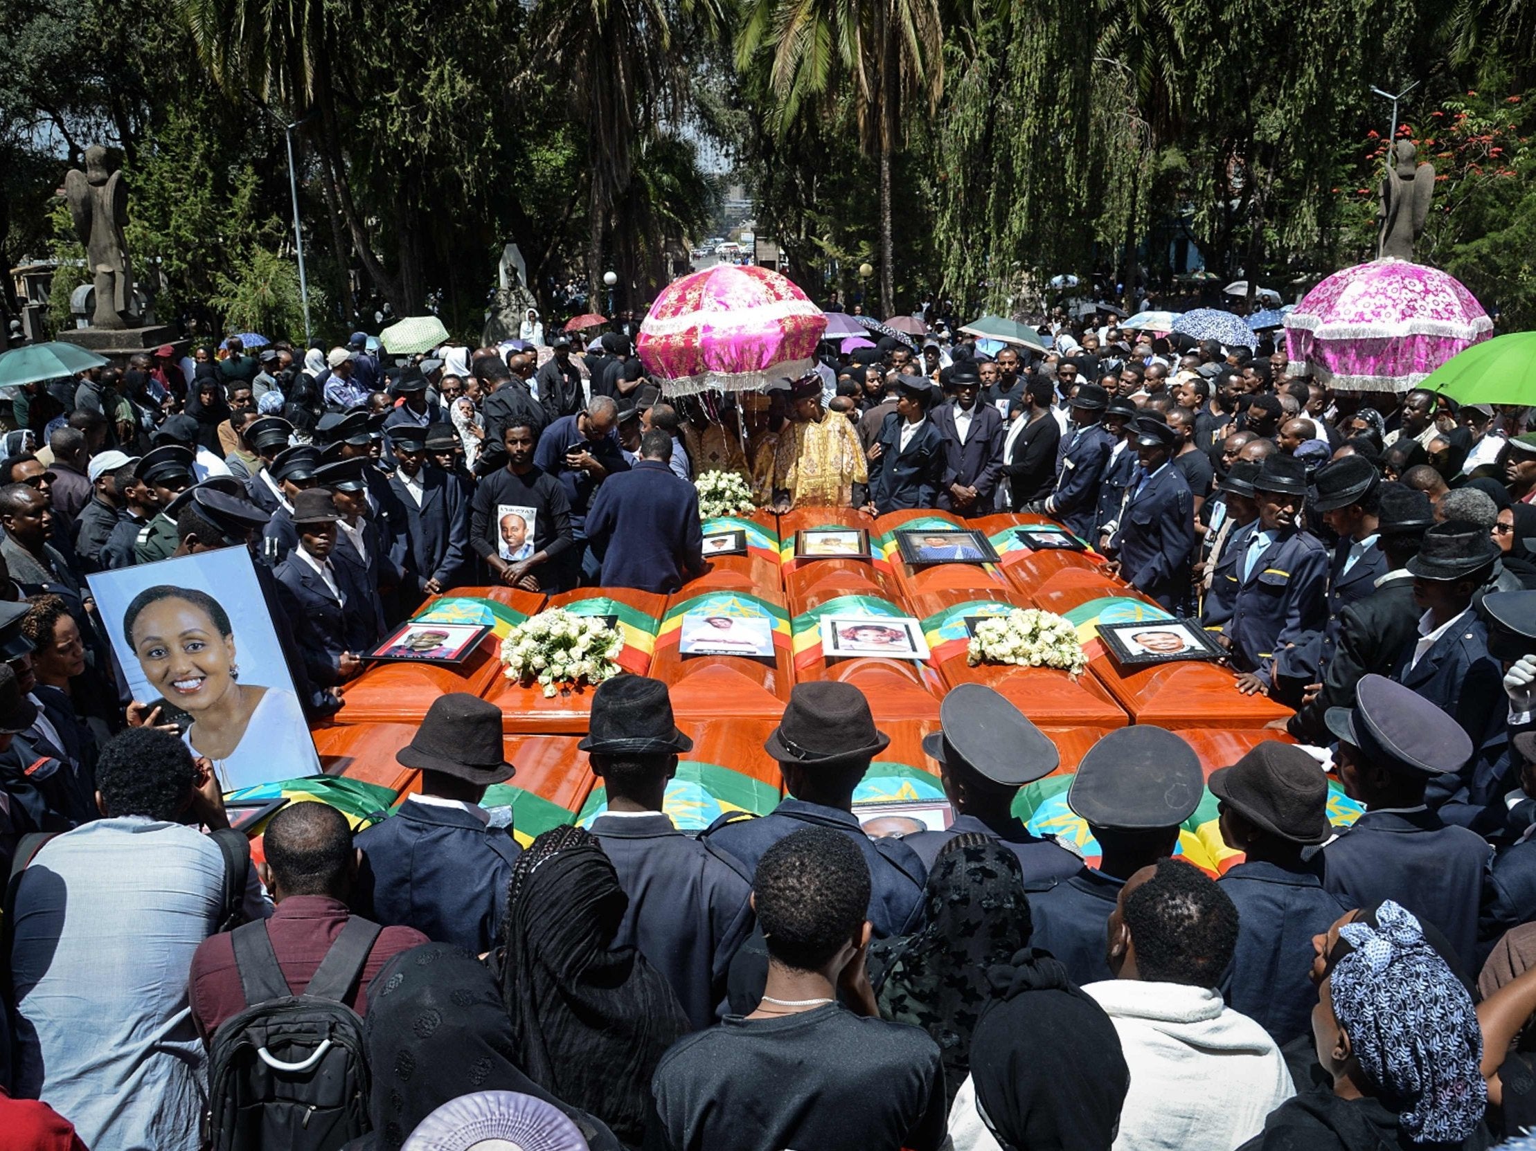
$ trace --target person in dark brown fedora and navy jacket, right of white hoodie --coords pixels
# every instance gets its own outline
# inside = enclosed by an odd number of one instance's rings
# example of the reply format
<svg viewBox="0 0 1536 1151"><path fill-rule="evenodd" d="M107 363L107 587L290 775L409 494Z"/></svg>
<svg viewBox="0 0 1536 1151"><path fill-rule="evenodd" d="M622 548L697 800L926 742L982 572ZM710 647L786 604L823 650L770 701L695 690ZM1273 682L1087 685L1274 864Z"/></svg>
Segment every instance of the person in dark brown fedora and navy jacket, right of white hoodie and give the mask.
<svg viewBox="0 0 1536 1151"><path fill-rule="evenodd" d="M1312 1034L1312 938L1349 910L1301 858L1332 833L1327 777L1304 750L1272 740L1218 767L1209 786L1221 838L1246 853L1218 881L1238 909L1238 947L1221 993L1284 1047Z"/></svg>

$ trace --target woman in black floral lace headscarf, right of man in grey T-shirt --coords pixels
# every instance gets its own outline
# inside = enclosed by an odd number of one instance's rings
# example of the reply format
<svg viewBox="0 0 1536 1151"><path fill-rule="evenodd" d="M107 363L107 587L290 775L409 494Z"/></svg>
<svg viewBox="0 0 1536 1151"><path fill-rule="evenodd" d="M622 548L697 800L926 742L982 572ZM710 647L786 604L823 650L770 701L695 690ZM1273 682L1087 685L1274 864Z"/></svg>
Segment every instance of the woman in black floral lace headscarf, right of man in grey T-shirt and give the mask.
<svg viewBox="0 0 1536 1151"><path fill-rule="evenodd" d="M938 1044L952 1100L992 998L986 970L1029 942L1029 898L1018 856L974 832L945 844L923 898L920 932L869 944L869 985L883 1019L922 1027Z"/></svg>

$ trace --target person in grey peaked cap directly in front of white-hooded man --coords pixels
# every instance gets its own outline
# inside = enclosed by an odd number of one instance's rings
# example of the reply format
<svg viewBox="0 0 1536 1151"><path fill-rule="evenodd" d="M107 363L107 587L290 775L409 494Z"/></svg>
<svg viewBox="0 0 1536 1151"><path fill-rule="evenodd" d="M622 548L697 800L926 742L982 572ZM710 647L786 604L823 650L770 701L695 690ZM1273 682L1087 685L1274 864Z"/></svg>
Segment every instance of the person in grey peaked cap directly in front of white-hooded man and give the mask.
<svg viewBox="0 0 1536 1151"><path fill-rule="evenodd" d="M1060 959L1074 984L1114 978L1106 928L1120 889L1174 853L1178 826L1203 795L1193 747L1163 727L1120 727L1083 757L1066 803L1098 841L1098 870L1083 867L1051 886L1026 884L1031 944Z"/></svg>

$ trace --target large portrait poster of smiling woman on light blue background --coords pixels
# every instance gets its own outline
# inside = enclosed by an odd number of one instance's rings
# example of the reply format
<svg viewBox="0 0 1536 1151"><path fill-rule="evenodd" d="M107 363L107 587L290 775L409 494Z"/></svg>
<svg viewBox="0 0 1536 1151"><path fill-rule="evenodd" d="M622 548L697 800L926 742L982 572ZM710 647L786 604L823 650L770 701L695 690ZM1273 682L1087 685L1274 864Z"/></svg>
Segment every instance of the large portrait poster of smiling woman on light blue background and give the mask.
<svg viewBox="0 0 1536 1151"><path fill-rule="evenodd" d="M319 772L253 563L221 548L86 577L132 698L226 792Z"/></svg>

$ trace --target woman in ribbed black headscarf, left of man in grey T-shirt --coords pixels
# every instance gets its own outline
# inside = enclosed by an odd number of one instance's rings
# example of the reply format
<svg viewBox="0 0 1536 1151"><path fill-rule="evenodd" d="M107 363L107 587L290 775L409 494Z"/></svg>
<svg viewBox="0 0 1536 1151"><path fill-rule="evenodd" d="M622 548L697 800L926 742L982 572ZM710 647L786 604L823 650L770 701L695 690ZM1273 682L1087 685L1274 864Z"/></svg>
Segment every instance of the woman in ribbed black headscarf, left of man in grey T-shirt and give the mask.
<svg viewBox="0 0 1536 1151"><path fill-rule="evenodd" d="M598 841L554 827L511 867L499 964L518 1067L637 1145L651 1076L688 1017L645 956L613 947L628 904Z"/></svg>

